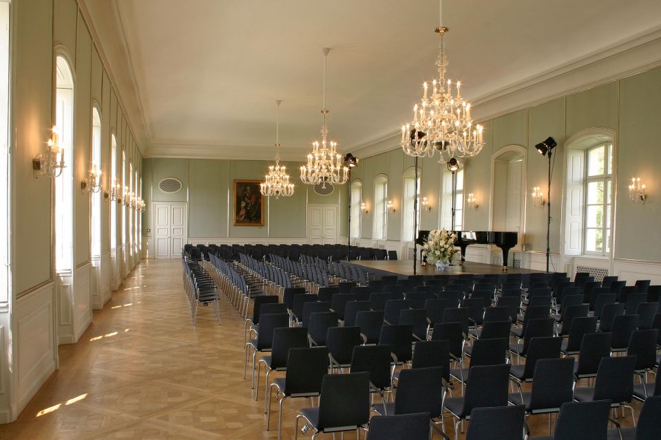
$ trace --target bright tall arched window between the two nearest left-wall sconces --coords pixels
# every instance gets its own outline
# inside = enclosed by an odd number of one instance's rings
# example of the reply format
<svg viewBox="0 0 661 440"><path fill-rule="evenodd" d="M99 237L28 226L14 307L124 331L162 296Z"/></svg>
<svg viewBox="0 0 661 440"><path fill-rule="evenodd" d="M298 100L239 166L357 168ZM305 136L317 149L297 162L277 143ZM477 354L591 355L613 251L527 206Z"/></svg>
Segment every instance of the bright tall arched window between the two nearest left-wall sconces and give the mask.
<svg viewBox="0 0 661 440"><path fill-rule="evenodd" d="M69 63L56 58L55 130L67 166L55 178L55 267L72 270L72 150L74 146L74 79Z"/></svg>

